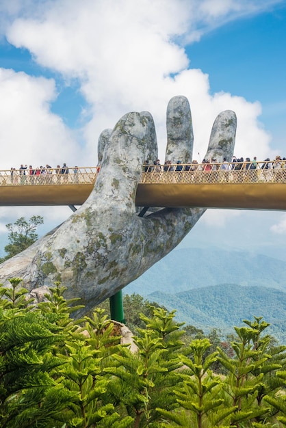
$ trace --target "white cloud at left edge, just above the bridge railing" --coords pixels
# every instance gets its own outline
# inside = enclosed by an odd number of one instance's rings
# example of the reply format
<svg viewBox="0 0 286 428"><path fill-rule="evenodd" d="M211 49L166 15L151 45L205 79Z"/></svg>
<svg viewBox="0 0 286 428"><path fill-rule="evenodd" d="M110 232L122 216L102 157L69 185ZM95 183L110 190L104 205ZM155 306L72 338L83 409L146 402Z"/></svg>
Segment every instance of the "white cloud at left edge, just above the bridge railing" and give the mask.
<svg viewBox="0 0 286 428"><path fill-rule="evenodd" d="M78 159L79 146L62 119L51 113L55 83L0 68L0 144L3 169L33 162L53 166Z"/></svg>

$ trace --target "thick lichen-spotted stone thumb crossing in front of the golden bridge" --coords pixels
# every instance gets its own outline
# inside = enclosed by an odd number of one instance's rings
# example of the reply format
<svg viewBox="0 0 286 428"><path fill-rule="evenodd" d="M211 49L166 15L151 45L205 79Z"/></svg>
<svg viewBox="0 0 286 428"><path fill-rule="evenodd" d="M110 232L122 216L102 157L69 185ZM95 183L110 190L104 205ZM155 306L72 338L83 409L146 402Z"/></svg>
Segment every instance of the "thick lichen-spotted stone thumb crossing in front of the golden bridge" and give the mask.
<svg viewBox="0 0 286 428"><path fill-rule="evenodd" d="M151 144L152 142L152 144ZM135 212L135 195L146 154L155 150L157 139L150 113L131 112L114 127L105 144L101 173L84 206L96 206Z"/></svg>

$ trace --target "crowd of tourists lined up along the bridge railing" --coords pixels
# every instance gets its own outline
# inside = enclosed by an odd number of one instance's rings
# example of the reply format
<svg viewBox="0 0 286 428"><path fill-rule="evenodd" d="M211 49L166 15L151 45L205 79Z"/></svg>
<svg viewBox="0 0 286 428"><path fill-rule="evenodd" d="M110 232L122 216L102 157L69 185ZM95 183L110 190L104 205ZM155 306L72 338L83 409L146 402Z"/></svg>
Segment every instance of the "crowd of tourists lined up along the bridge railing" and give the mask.
<svg viewBox="0 0 286 428"><path fill-rule="evenodd" d="M96 172L99 172L101 166L98 165L96 167ZM251 172L251 170L256 170L256 172ZM249 174L248 174L249 171ZM78 183L79 182L79 172L81 172L81 168L78 166L74 166L72 168L68 168L66 163L63 165L57 165L56 168L52 168L51 165L47 164L45 167L40 166L37 168L33 168L32 165L23 165L21 164L20 168L16 170L15 168L11 168L9 183L7 179L5 179L5 183L7 184L24 184L24 183ZM264 159L264 161L257 161L257 157L253 157L250 160L250 157L233 157L232 161L226 161L226 158L222 161L218 161L217 159L211 157L210 159L203 159L203 161L198 162L194 159L192 162L183 163L178 160L176 162L165 161L164 164L160 163L159 159L155 161L146 160L143 165L143 172L152 172L155 174L158 180L161 180L164 172L182 172L182 174L172 174L172 183L173 182L188 182L191 180L192 182L203 182L205 180L205 174L201 174L200 172L208 172L212 174L208 174L209 178L207 178L207 182L218 181L220 179L224 181L242 181L248 180L250 177L250 181L263 180L263 181L286 181L286 158L277 155L275 159L270 160L270 158ZM70 173L73 174L74 178L70 176ZM188 173L188 174L183 174ZM216 173L216 174L215 174ZM53 174L52 176L50 174ZM88 180L90 180L90 174L94 174L92 172L86 174L88 176ZM149 175L149 174L148 174ZM184 177L183 177L184 175ZM7 175L5 174L6 178ZM70 178L68 178L70 176ZM186 176L191 176L191 178L187 178ZM29 177L29 178L28 178ZM51 177L52 181L47 178ZM84 177L83 177L84 178ZM83 179L84 181L84 179ZM4 182L3 182L4 183ZM1 181L1 184L3 184ZM4 183L4 184L5 184Z"/></svg>

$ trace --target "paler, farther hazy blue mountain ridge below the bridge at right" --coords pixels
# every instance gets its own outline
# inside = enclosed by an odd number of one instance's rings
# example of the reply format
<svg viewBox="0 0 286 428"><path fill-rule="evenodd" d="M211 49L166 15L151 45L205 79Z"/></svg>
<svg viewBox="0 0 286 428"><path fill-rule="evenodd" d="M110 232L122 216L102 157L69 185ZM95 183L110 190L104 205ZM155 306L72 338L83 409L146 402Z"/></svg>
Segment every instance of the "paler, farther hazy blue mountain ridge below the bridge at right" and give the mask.
<svg viewBox="0 0 286 428"><path fill-rule="evenodd" d="M179 293L216 284L267 286L286 291L286 263L248 252L174 250L129 284L125 293Z"/></svg>

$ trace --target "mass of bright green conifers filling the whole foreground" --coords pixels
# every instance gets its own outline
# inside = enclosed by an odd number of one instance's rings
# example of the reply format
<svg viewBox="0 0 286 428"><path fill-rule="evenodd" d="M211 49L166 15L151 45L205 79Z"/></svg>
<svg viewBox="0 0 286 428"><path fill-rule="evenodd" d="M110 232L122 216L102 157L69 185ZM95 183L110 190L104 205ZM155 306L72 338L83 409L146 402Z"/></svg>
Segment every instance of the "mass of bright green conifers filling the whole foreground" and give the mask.
<svg viewBox="0 0 286 428"><path fill-rule="evenodd" d="M286 426L286 347L261 317L222 342L146 304L131 352L103 309L70 318L81 306L64 291L35 307L20 278L0 286L1 427Z"/></svg>

